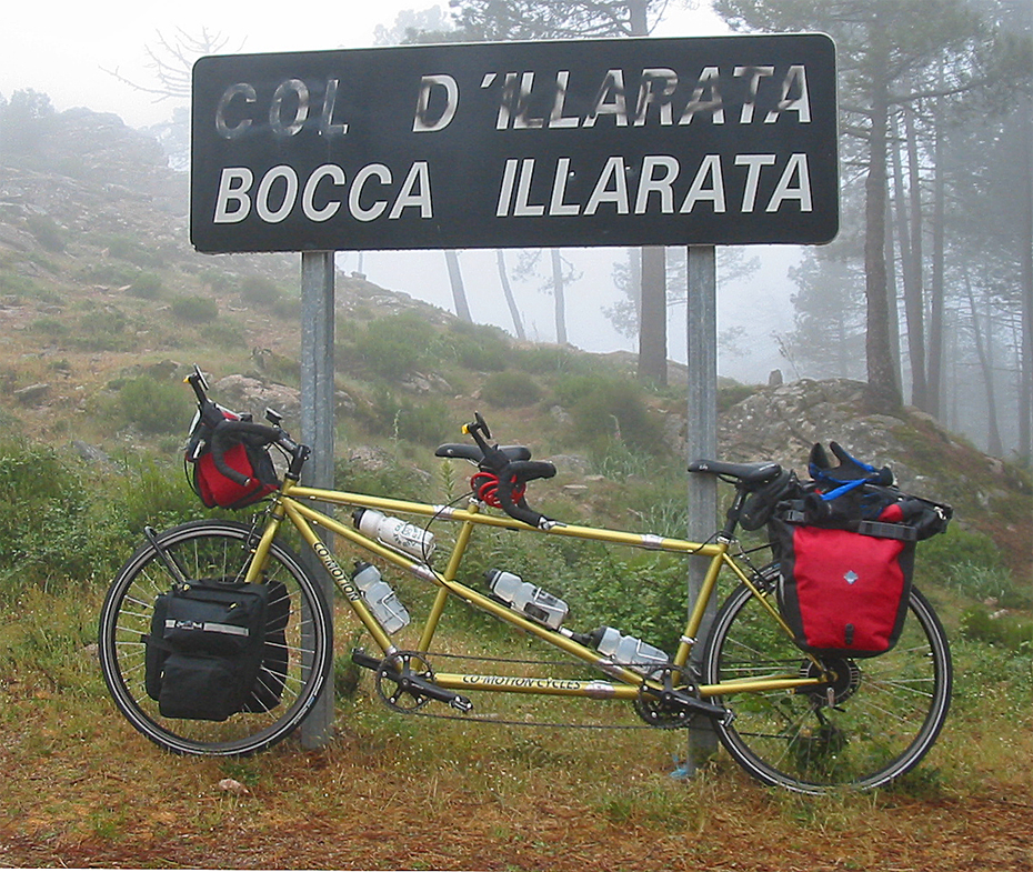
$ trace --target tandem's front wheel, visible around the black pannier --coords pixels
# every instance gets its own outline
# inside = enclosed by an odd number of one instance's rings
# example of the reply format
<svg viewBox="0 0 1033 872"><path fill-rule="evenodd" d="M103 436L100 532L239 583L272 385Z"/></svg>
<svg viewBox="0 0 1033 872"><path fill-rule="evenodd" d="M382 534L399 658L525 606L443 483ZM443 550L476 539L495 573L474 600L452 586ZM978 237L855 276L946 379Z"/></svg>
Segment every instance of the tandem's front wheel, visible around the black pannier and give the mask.
<svg viewBox="0 0 1033 872"><path fill-rule="evenodd" d="M160 533L158 541L188 579L242 579L252 538L252 528L233 521L193 521ZM147 693L144 638L156 598L173 583L154 549L149 543L138 549L111 583L98 629L101 671L119 711L156 744L177 754L248 755L285 739L311 711L333 659L330 610L319 584L283 545L272 544L263 574L281 582L290 598L282 696L269 711L243 711L225 721L164 718Z"/></svg>

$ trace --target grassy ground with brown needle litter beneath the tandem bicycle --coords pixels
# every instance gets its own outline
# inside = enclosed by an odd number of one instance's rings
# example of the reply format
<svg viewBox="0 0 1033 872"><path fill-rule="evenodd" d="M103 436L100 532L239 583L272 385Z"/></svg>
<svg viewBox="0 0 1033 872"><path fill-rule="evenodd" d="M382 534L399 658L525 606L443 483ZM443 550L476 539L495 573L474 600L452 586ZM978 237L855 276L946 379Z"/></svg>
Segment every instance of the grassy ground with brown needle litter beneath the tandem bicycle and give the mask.
<svg viewBox="0 0 1033 872"><path fill-rule="evenodd" d="M957 704L914 773L814 799L766 789L723 753L674 780L685 750L674 732L405 718L383 708L369 674L339 701L323 749L289 740L244 760L171 756L107 696L91 648L101 594L27 590L4 611L2 865L924 872L979 856L984 869L1027 868L1029 682L974 643L957 647ZM449 648L531 651L462 621L447 632ZM338 637L352 642L347 621ZM478 702L507 716L635 723L615 703ZM220 789L223 779L243 790Z"/></svg>

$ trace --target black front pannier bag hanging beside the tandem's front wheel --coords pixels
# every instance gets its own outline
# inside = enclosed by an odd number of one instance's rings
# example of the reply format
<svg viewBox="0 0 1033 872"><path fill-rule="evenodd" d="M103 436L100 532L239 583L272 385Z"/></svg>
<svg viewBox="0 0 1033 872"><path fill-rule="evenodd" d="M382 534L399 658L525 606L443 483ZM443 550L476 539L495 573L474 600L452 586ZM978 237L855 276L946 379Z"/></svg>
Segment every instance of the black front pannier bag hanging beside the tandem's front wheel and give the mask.
<svg viewBox="0 0 1033 872"><path fill-rule="evenodd" d="M224 721L244 710L265 711L271 705L263 700L272 696L275 704L282 679L274 693L254 692L272 588L204 579L157 597L144 679L162 716Z"/></svg>

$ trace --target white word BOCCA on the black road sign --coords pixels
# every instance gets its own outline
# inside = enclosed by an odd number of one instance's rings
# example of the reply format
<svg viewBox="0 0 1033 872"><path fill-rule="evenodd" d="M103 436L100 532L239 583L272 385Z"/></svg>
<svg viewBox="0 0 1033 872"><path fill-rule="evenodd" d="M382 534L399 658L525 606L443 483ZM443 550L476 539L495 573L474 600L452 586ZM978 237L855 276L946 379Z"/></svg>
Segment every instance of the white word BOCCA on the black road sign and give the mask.
<svg viewBox="0 0 1033 872"><path fill-rule="evenodd" d="M278 224L299 206L307 219L317 222L329 221L342 207L351 218L364 222L375 221L384 212L389 221L397 221L410 209L417 210L421 219L433 218L430 167L427 161L414 161L397 189L391 170L382 163L360 169L350 188L343 168L335 163L317 167L303 186L292 167L279 164L262 176L258 188L254 173L247 167L225 167L219 180L213 221L239 223L253 209L265 223Z"/></svg>

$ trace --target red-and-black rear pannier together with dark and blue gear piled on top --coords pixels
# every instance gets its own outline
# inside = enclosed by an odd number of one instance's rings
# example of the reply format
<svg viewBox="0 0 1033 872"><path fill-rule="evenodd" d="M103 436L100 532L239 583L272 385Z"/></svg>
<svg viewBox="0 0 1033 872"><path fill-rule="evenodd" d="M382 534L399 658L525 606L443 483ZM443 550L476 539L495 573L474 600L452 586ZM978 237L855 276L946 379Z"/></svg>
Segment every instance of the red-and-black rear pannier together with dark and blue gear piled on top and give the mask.
<svg viewBox="0 0 1033 872"><path fill-rule="evenodd" d="M779 608L798 647L865 658L897 642L914 573L915 542L946 529L949 505L903 493L830 443L811 452L812 481L775 508L769 532L780 564Z"/></svg>

